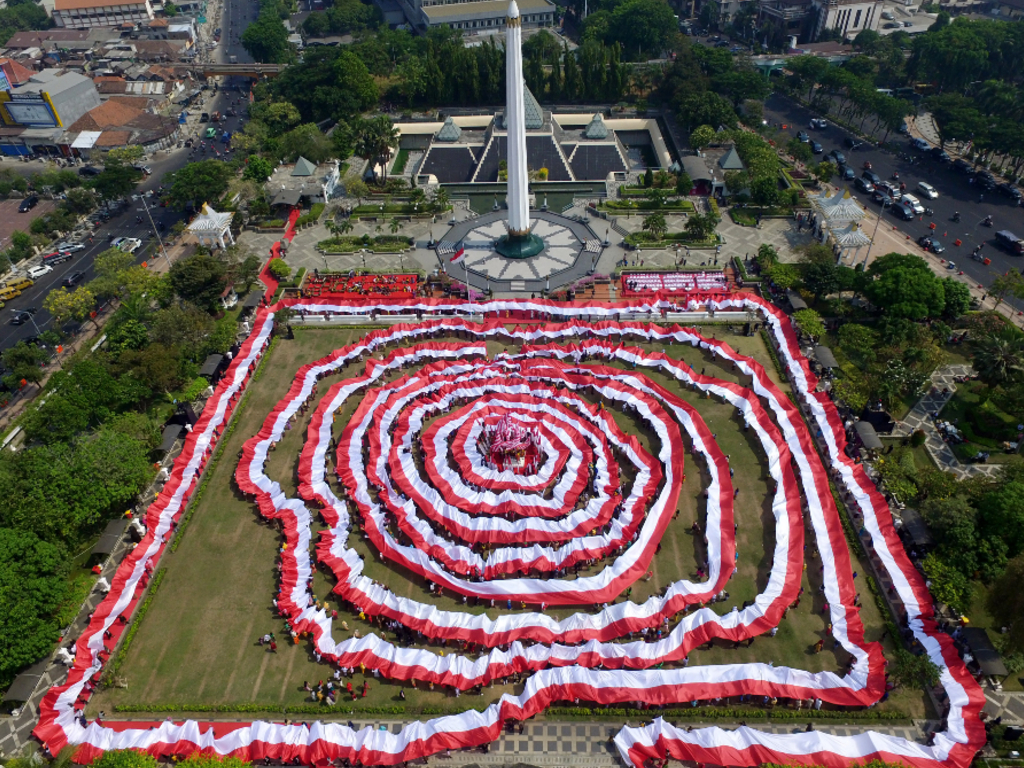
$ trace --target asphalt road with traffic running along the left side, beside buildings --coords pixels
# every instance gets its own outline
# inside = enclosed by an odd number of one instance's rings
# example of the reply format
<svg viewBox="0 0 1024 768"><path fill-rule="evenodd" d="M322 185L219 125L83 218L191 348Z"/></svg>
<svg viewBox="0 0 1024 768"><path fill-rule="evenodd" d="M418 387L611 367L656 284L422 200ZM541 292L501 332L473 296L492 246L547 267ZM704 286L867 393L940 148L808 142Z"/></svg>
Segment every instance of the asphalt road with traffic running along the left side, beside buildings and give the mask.
<svg viewBox="0 0 1024 768"><path fill-rule="evenodd" d="M213 24L211 19L211 23L206 25L209 29L209 35L212 35L213 30L217 26L222 28L221 44L210 51L212 58L216 61L227 61L227 56L236 55L240 62L251 62L252 58L246 53L237 38L241 34L241 30L244 30L251 20L255 19L258 8L255 4L246 3L243 0L224 0L224 2L225 6L223 7L221 20L218 24ZM222 128L233 133L245 124L250 82L247 78L225 78L224 82L220 83L219 89L209 92L210 95L202 111L223 113L228 108L233 108L239 115L233 118L227 118L220 124ZM205 126L203 127L205 128ZM209 145L209 142L207 143ZM223 146L219 140L217 143L218 146ZM156 191L165 182L167 174L178 170L191 161L212 157L214 157L213 153L209 152L205 155L198 152L195 155L189 155L189 151L184 147L158 153L145 161L145 164L153 170L153 174L139 183L137 193L142 195L151 189ZM19 168L18 170L22 169ZM30 170L36 169L32 168ZM161 223L164 225L164 231L161 234L169 231L175 222L185 218L185 214L180 211L160 207L160 200L156 195L148 198L146 204L150 207L154 224L158 227ZM139 216L142 217L141 222L136 220ZM59 288L63 279L72 272L83 272L84 276L79 282L79 285L92 280L95 276L94 262L96 255L106 250L110 242L115 238L138 238L142 241L143 246L151 241L156 241L156 233L150 224L150 219L142 207L141 200L129 200L128 208L124 212L94 230L92 243L86 242L86 250L74 254L70 261L55 265L53 271L37 280L34 286L23 292L17 298L6 302L4 307L0 309L0 351L14 346L24 339L38 336L44 331L51 330L53 318L43 308L43 299L51 290ZM144 255L144 251L143 247L137 252L139 263L145 258L154 258L152 255ZM36 262L32 263L35 264ZM33 317L34 323L29 322L22 326L10 325L14 312L29 307L36 309L36 314ZM78 324L69 324L63 330L71 332L77 326Z"/></svg>

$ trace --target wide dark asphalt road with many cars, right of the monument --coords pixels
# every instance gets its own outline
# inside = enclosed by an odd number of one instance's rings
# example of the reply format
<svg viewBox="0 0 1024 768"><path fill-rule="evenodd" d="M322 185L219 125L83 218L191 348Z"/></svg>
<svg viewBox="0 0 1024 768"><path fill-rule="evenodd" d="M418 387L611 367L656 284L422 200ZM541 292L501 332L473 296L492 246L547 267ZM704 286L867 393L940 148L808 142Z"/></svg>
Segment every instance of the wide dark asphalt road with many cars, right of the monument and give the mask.
<svg viewBox="0 0 1024 768"><path fill-rule="evenodd" d="M843 139L850 134L831 123L824 129L811 129L808 126L812 117L818 116L782 96L772 95L765 102L766 120L773 124L787 125L788 128L784 133L790 136L796 136L802 130L807 131L812 140L824 146L825 155L831 150L839 150L846 155L847 164L857 172L858 176L865 161L871 163L871 170L883 179L889 179L893 171L899 173L899 180L906 183L907 191L913 194L926 208L935 211L933 217L904 221L898 215L890 213L890 209L887 208L882 226L887 224L896 226L900 231L909 234L911 243L907 244L908 252L923 253L915 242L923 234L933 233L929 224L934 221L935 236L947 247L942 257L954 261L956 267L964 270L977 284L987 287L992 280L1009 269L1024 267L1024 259L999 249L994 242L994 234L998 229L1009 229L1024 238L1024 208L1017 207L1012 199L995 189L985 193L983 199L979 199L980 190L969 183L969 175L953 170L948 163L932 160L927 153L911 150L909 138L899 137L898 140L903 142L907 153L920 159L913 165L891 153L866 144L851 152L843 143ZM778 143L784 144L786 141L787 138L782 138ZM820 159L824 155L817 157ZM926 200L915 190L919 181L930 183L938 190L939 197L935 200ZM836 180L836 183L846 184L850 194L858 198L865 208L877 210L881 207L871 200L870 195L859 191L852 182ZM961 214L958 223L952 221L954 211ZM994 226L991 228L982 226L981 222L986 216L992 217ZM957 239L963 242L958 248L953 246L953 241ZM988 266L970 258L971 252L979 243L985 244L983 253L991 259L992 263ZM872 255L881 254L872 252ZM1010 300L1010 303L1019 309L1024 308L1022 301Z"/></svg>

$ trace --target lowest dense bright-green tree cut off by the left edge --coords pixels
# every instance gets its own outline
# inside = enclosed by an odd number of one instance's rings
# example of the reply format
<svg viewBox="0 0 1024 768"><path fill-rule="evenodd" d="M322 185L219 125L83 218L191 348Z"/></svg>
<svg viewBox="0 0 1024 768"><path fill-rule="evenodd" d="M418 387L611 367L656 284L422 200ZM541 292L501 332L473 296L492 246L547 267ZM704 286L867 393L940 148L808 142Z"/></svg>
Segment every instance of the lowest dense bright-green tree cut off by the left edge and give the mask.
<svg viewBox="0 0 1024 768"><path fill-rule="evenodd" d="M8 489L9 493L9 489ZM70 560L28 530L0 528L0 680L46 656L60 634ZM154 764L156 766L156 764Z"/></svg>

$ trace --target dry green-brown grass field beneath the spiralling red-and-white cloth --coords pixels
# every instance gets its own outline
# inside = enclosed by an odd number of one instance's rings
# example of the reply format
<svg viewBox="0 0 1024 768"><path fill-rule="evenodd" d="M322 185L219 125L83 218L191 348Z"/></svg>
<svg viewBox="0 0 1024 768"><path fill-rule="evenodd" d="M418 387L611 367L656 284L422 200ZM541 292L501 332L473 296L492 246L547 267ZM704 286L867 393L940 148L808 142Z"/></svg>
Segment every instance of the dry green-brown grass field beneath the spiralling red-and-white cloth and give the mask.
<svg viewBox="0 0 1024 768"><path fill-rule="evenodd" d="M774 368L759 336L723 337L724 329L714 331L719 338L725 338L741 353L759 359L772 378L775 378ZM294 707L308 703L308 694L303 690L305 681L315 682L332 674L333 670L315 663L306 642L298 645L286 645L282 642L275 654L267 652L257 643L257 637L266 632L274 632L279 638L286 635L284 624L274 616L270 602L276 591L275 563L282 539L275 527L262 522L255 505L245 500L234 487L234 457L288 390L295 371L305 362L355 340L361 333L346 330L301 331L296 334L294 341L283 340L276 344L264 362L262 377L250 387L242 413L237 417L238 425L227 438L223 458L210 477L206 493L180 547L173 554L169 553L162 563L162 567L167 569L165 579L120 672L127 682L127 688L112 688L99 692L90 702L90 712L112 713L118 706L150 707L154 713L159 713L161 708L188 705L223 706L243 710L249 706ZM487 346L492 354L506 349L497 343L488 343ZM706 368L707 373L723 380L737 381L730 370L720 368L710 355L699 349L682 345L666 348L646 345L646 348L648 351L665 351L698 371ZM351 370L347 369L348 372ZM732 407L713 398L701 398L695 392L682 389L665 375L648 375L656 383L697 408L710 429L717 433L719 444L730 456L731 464L736 468L733 481L740 489L735 510L738 524L738 571L727 587L730 599L715 606L725 613L733 605L742 605L744 601L753 599L764 588L771 567L775 544L774 519L769 511L769 478L762 461L761 447L753 437L753 432L744 432L740 428ZM333 381L337 379L326 379L321 391L326 391ZM785 391L786 386L780 386ZM355 401L356 398L350 398L346 408L338 414L336 429L339 432L347 423ZM645 447L654 447L630 417L614 413L624 430L638 434ZM305 439L306 423L300 421L285 433L275 452L270 454L268 462L267 474L281 482L292 496L295 495L296 466ZM684 442L689 446L688 439L684 439ZM670 523L662 551L654 557L653 579L647 583L639 581L634 585L632 599L635 601L642 601L665 585L684 575L695 577L696 564L702 560L702 545L699 539L690 535L689 528L697 515L699 497L707 478L701 476L701 472L695 471L694 467L699 466L699 463L694 462L691 454L687 453L685 461L687 479L679 502L680 515ZM317 538L315 530L313 538ZM842 669L845 657L839 658L827 651L815 654L811 649L814 642L824 636L827 618L819 612L821 599L817 588L820 582L817 568L814 567L814 540L810 531L807 544L809 560L804 573L805 599L800 608L790 611L777 635L774 638L759 637L751 647L732 649L725 644L716 644L710 650L695 650L691 653L691 665L771 660L776 666L792 666L815 672ZM484 610L482 606L467 608L447 596L434 597L421 578L400 567L384 565L362 541L351 538L349 546L366 556L367 575L387 584L399 595L432 602L442 609L472 612ZM864 562L860 562L859 567L855 563L854 567L861 573L867 570ZM315 596L318 599L329 597L335 586L333 577L319 570L314 573ZM864 596L861 616L866 627L866 637L870 641L879 640L883 633L883 622L866 586L861 587ZM816 599L808 599L811 596ZM374 631L371 625L361 625L356 616L337 605L335 600L329 599L338 607L339 620L347 621L350 632L357 629L361 634ZM589 610L589 607L581 609ZM565 616L573 610L549 609L549 612ZM336 630L335 639L344 639L340 629ZM495 684L494 687L484 688L482 696L464 694L456 701L454 696L439 690L427 691L422 686L419 689L407 686L408 698L402 701L398 696L397 684L375 679L369 674L367 678L370 681L370 693L355 702L357 707L402 705L410 717L416 717L423 708L480 707L504 692L521 690L521 685ZM355 675L353 685L361 687L360 675ZM922 691L896 691L889 701L879 705L877 709L923 717L926 715L925 708ZM131 716L140 717L138 714ZM240 717L237 714L220 716ZM211 715L204 713L203 717L209 718ZM337 717L344 718L345 715L337 713Z"/></svg>

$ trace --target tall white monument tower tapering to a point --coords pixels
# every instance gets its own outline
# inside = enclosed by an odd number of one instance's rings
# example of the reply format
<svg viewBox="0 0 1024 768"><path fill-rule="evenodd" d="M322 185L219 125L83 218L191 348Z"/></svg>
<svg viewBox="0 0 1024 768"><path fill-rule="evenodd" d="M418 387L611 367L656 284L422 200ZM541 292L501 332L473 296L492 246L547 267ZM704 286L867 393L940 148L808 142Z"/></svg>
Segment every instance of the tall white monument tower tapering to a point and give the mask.
<svg viewBox="0 0 1024 768"><path fill-rule="evenodd" d="M526 175L526 120L523 104L522 22L515 0L505 19L505 125L508 128L509 234L529 234L529 181Z"/></svg>

